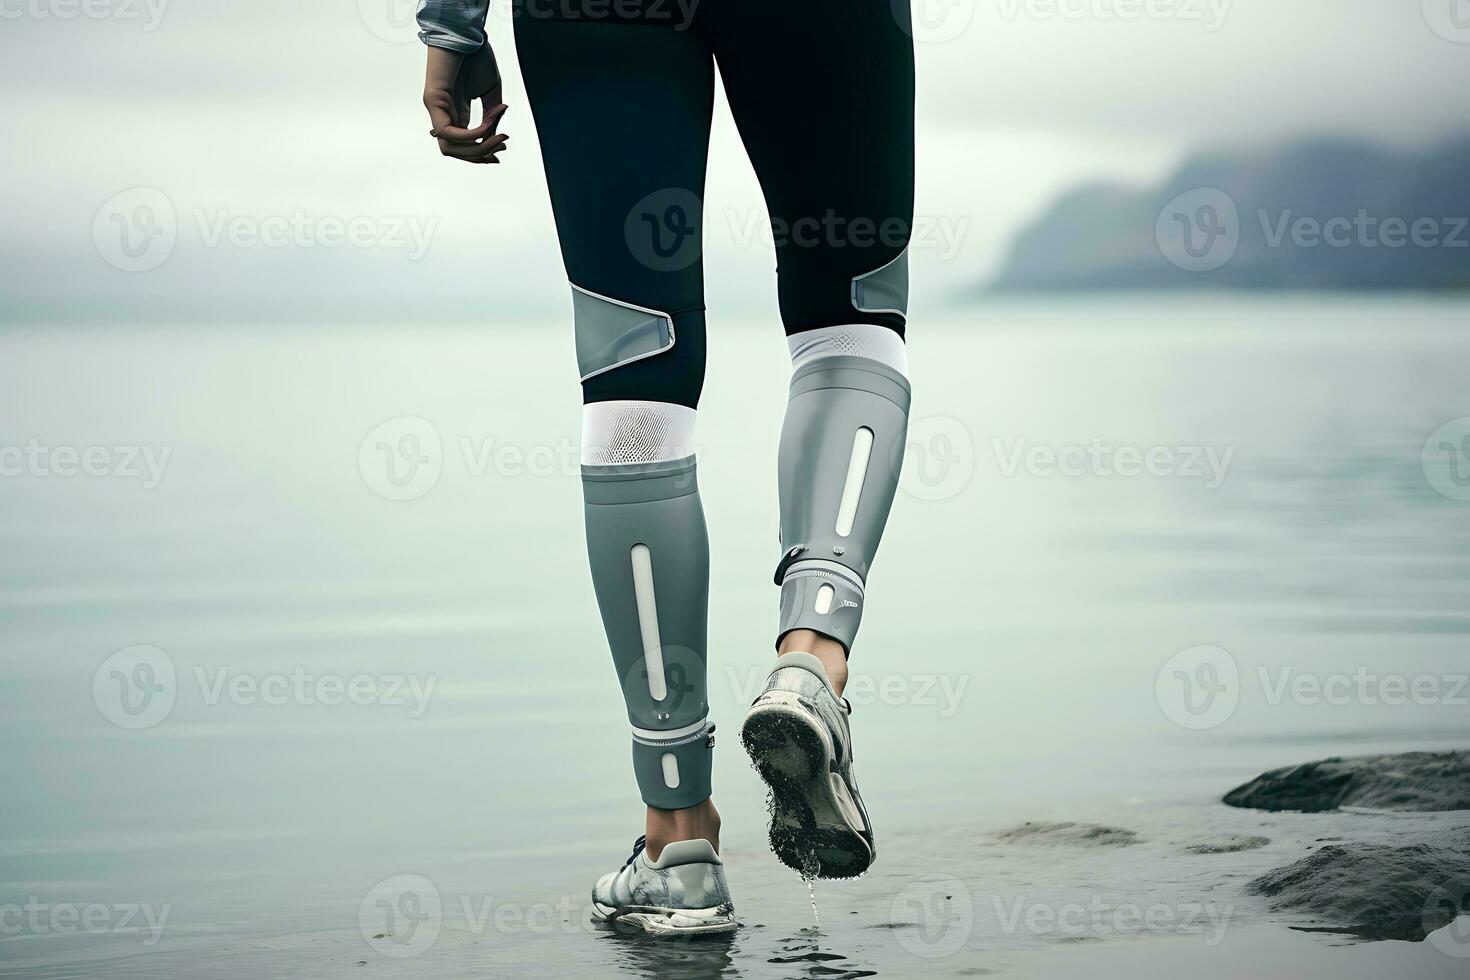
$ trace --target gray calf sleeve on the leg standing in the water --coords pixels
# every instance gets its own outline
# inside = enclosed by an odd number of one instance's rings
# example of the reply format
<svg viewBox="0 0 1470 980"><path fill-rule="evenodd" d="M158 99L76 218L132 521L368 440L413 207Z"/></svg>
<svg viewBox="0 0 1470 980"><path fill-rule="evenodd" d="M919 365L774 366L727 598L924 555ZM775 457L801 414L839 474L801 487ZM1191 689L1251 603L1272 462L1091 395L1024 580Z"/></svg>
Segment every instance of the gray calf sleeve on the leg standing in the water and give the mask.
<svg viewBox="0 0 1470 980"><path fill-rule="evenodd" d="M613 649L644 802L710 796L706 698L709 538L694 457L582 466L587 551Z"/></svg>

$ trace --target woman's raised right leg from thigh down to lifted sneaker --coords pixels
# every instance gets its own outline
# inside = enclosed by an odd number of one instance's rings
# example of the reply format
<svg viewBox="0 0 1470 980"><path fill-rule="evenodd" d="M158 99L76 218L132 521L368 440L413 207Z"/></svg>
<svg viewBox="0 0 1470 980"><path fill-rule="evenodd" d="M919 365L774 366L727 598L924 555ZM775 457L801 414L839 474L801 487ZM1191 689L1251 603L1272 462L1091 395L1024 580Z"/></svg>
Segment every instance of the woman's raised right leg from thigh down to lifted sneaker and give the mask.
<svg viewBox="0 0 1470 980"><path fill-rule="evenodd" d="M892 0L741 0L706 15L770 212L792 360L781 657L741 741L772 790L776 855L853 877L878 851L842 685L908 425L913 41Z"/></svg>

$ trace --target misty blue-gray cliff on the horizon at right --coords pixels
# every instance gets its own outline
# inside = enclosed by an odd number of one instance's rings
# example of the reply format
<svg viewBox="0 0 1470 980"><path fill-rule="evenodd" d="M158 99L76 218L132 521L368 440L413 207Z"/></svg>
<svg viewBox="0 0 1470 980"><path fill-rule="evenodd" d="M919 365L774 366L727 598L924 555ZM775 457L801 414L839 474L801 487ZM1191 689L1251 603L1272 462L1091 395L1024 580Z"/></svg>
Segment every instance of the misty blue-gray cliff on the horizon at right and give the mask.
<svg viewBox="0 0 1470 980"><path fill-rule="evenodd" d="M1466 289L1470 137L1202 154L1160 187L1082 187L1011 245L998 291Z"/></svg>

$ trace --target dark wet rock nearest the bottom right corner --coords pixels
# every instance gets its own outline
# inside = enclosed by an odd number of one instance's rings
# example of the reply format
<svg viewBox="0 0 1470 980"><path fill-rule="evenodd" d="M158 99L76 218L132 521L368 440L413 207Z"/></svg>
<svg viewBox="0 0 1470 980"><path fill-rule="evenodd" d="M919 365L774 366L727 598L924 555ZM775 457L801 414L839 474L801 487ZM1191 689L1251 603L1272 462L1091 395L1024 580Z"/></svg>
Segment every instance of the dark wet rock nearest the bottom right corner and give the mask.
<svg viewBox="0 0 1470 980"><path fill-rule="evenodd" d="M1464 908L1470 835L1402 848L1333 843L1248 889L1264 895L1272 909L1305 918L1298 929L1419 942Z"/></svg>

